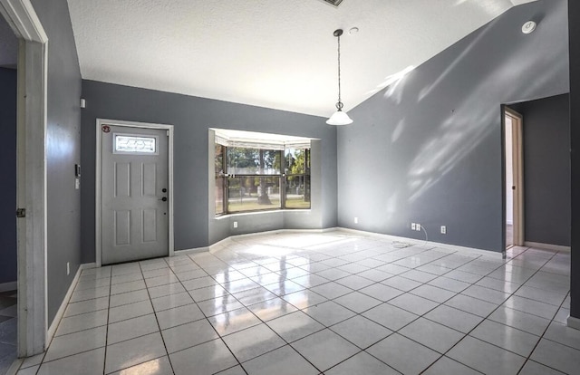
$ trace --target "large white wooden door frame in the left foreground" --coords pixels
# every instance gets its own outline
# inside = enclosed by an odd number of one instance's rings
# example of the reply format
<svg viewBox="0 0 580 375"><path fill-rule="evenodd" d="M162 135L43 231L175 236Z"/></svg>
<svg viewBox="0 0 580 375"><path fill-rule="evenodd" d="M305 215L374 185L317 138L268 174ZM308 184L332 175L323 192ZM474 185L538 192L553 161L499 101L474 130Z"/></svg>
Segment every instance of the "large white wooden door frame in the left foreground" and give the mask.
<svg viewBox="0 0 580 375"><path fill-rule="evenodd" d="M46 111L48 36L30 0L0 0L0 14L19 40L16 115L18 356L48 341L46 283Z"/></svg>

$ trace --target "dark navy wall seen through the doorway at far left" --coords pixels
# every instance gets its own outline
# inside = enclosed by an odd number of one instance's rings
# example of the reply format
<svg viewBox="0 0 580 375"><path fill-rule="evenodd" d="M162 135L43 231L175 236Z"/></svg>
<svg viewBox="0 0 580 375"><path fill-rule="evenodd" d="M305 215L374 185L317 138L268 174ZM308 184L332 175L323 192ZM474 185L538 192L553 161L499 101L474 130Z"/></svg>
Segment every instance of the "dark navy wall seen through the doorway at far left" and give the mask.
<svg viewBox="0 0 580 375"><path fill-rule="evenodd" d="M0 16L0 18L2 18ZM0 19L0 22L4 22ZM16 74L0 68L0 284L15 282L16 264Z"/></svg>

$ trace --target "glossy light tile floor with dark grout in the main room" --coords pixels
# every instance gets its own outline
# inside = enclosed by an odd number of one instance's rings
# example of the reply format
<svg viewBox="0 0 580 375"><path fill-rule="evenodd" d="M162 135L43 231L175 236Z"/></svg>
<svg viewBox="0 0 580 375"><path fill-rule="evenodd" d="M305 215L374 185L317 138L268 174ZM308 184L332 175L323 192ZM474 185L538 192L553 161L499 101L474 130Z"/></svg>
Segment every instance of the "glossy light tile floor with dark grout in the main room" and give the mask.
<svg viewBox="0 0 580 375"><path fill-rule="evenodd" d="M18 374L580 373L569 254L345 232L222 247L83 271Z"/></svg>

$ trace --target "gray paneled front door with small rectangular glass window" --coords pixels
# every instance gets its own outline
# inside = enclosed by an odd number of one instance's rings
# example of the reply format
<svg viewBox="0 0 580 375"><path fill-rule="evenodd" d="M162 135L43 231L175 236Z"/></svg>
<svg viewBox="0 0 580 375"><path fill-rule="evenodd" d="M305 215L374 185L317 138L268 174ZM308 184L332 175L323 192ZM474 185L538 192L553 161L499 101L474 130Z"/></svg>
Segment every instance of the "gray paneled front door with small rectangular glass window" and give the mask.
<svg viewBox="0 0 580 375"><path fill-rule="evenodd" d="M169 255L168 130L101 131L102 264Z"/></svg>

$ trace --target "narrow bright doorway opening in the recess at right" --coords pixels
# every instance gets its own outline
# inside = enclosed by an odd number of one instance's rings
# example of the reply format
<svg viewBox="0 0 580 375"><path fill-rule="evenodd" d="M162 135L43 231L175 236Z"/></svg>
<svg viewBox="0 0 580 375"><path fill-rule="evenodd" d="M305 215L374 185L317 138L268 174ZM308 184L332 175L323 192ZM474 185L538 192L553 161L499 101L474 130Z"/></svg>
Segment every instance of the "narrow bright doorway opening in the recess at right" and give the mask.
<svg viewBox="0 0 580 375"><path fill-rule="evenodd" d="M504 106L505 248L524 245L523 116Z"/></svg>

